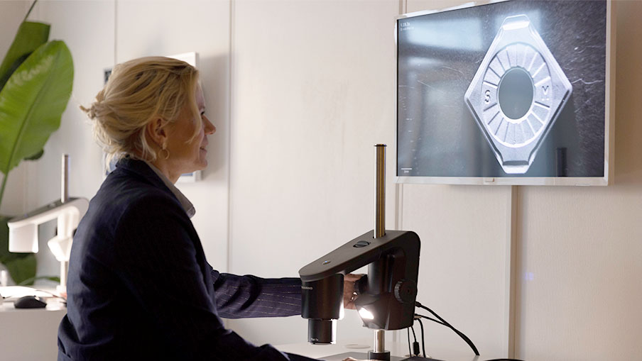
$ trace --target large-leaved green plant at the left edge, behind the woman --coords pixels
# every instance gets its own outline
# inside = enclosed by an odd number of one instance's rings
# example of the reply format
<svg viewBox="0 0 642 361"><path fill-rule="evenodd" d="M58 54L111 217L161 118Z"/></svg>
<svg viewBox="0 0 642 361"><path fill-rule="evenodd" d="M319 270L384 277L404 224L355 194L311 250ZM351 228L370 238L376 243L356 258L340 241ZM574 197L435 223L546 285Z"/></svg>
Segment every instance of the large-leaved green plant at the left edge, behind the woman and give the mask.
<svg viewBox="0 0 642 361"><path fill-rule="evenodd" d="M50 26L27 21L18 28L0 65L0 204L9 172L22 160L36 160L71 96L74 70L71 52L61 40L49 41ZM16 284L32 284L36 257L9 252L11 216L0 215L0 263Z"/></svg>

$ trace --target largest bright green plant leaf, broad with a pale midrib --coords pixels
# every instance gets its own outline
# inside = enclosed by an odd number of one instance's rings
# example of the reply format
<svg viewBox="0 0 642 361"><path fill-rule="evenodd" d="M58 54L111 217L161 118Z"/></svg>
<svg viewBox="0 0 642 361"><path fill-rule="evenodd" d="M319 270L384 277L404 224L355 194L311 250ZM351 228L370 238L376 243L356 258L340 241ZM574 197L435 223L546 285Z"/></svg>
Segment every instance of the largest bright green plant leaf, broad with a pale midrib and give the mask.
<svg viewBox="0 0 642 361"><path fill-rule="evenodd" d="M0 91L1 172L43 149L60 127L73 77L71 52L60 40L41 45L11 74Z"/></svg>

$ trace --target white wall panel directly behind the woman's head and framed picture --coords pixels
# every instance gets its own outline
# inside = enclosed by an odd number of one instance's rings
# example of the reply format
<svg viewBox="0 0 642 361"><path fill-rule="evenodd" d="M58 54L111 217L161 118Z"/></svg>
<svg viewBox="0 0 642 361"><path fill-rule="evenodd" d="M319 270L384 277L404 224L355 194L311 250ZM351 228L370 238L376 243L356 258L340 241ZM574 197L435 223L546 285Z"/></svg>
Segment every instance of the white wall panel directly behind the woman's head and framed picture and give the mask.
<svg viewBox="0 0 642 361"><path fill-rule="evenodd" d="M117 2L116 62L198 52L205 111L217 132L210 135L202 180L177 187L196 208L192 222L218 270L227 270L229 19L229 1Z"/></svg>

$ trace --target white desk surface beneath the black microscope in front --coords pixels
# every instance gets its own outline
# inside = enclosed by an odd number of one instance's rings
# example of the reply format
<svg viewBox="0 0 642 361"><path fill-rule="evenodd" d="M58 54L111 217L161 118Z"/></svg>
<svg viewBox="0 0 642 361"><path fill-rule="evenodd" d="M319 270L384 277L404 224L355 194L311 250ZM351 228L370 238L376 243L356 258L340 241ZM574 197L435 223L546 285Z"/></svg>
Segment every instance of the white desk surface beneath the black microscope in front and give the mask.
<svg viewBox="0 0 642 361"><path fill-rule="evenodd" d="M386 336L388 335L386 334ZM287 345L276 345L275 347L277 350L282 352L290 352L297 355L323 359L324 357L344 352L360 352L367 354L369 350L372 350L372 340L353 340L344 342L338 340L335 345L290 343ZM386 350L390 351L392 356L408 357L408 342L406 340L401 342L392 342L391 340L386 339ZM472 350L465 343L462 345L462 348L457 350L427 348L426 353L428 354L428 357L446 361L483 361L506 357L501 355L475 356Z"/></svg>

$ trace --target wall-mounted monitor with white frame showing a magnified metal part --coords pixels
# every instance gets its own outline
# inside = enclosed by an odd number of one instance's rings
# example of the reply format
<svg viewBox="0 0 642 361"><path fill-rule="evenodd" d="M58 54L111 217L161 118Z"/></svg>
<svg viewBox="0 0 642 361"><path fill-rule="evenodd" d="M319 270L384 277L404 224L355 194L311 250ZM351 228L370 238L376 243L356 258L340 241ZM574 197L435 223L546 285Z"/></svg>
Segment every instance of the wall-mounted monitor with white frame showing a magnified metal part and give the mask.
<svg viewBox="0 0 642 361"><path fill-rule="evenodd" d="M607 184L610 5L513 0L400 16L398 181Z"/></svg>

